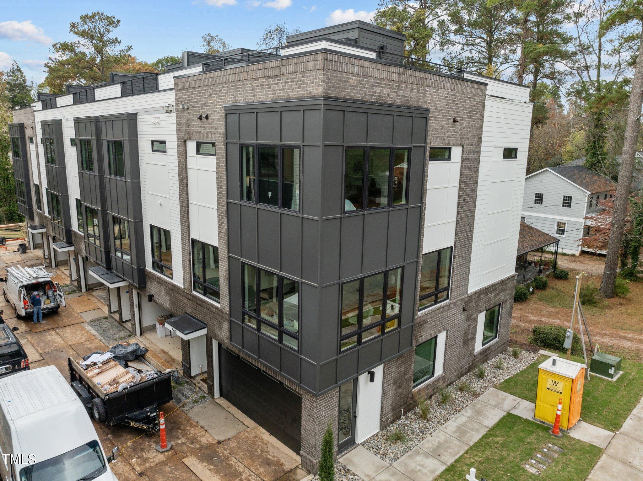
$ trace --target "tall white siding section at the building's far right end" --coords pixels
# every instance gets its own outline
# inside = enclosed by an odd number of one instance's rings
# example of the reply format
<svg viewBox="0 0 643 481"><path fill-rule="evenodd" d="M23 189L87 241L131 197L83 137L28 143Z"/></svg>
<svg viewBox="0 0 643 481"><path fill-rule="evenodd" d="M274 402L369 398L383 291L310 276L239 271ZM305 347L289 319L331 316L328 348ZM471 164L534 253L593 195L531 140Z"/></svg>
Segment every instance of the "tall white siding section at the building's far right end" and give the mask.
<svg viewBox="0 0 643 481"><path fill-rule="evenodd" d="M471 247L469 292L514 274L532 105L487 95ZM502 159L517 147L517 159Z"/></svg>

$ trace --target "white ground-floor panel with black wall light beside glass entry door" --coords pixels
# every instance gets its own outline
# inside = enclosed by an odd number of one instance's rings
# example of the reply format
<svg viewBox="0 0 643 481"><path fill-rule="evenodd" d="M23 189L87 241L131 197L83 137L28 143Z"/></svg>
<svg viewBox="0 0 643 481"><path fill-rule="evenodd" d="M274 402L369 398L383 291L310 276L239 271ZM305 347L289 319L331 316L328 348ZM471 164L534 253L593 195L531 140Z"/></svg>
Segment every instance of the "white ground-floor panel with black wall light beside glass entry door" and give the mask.
<svg viewBox="0 0 643 481"><path fill-rule="evenodd" d="M357 424L355 441L362 442L379 431L379 419L382 407L382 381L384 365L371 369L375 372L375 381L370 382L368 372L358 378Z"/></svg>

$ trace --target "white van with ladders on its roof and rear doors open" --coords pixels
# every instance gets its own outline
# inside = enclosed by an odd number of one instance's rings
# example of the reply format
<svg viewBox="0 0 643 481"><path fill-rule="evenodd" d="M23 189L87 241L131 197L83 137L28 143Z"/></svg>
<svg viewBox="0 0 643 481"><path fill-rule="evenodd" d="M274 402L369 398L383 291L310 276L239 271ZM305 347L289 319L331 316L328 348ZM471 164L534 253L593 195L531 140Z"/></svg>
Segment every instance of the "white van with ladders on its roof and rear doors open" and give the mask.
<svg viewBox="0 0 643 481"><path fill-rule="evenodd" d="M44 267L8 267L6 269L3 295L5 301L14 306L15 317L22 319L33 315L30 301L33 292L41 297L42 313L57 311L65 305L65 293L57 282L54 282L53 272Z"/></svg>

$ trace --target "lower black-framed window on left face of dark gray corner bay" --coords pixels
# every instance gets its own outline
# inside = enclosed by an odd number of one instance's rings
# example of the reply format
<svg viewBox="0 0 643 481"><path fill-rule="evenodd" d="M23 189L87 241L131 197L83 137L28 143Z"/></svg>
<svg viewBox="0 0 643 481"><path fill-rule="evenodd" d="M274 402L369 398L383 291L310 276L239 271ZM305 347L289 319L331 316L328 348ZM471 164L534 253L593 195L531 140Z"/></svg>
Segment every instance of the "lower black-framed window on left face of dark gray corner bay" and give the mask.
<svg viewBox="0 0 643 481"><path fill-rule="evenodd" d="M299 349L299 282L241 264L243 322L260 333Z"/></svg>

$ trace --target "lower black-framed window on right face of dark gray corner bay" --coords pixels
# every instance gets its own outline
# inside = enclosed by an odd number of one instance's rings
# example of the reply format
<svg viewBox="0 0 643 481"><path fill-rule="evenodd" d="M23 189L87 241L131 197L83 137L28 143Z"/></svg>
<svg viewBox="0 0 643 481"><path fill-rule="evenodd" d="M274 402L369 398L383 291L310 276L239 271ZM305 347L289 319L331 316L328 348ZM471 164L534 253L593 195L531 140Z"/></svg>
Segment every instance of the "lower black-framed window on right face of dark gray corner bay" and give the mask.
<svg viewBox="0 0 643 481"><path fill-rule="evenodd" d="M340 351L399 328L404 268L341 284Z"/></svg>

